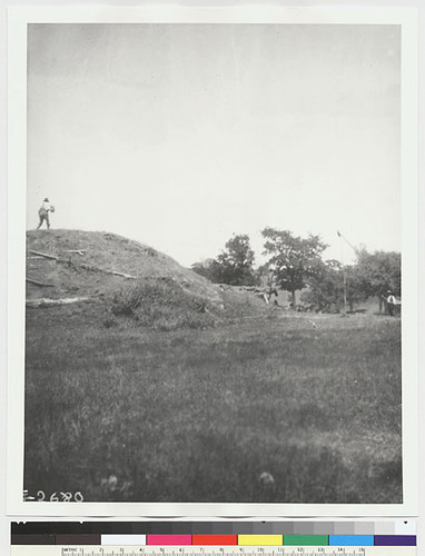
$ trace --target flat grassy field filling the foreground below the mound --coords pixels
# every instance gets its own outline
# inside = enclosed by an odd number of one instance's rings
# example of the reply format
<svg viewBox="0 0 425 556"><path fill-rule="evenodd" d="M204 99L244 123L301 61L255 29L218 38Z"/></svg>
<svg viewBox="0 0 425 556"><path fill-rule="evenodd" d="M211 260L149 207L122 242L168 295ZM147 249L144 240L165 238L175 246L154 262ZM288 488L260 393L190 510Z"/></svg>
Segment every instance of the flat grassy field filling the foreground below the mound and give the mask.
<svg viewBox="0 0 425 556"><path fill-rule="evenodd" d="M108 328L90 304L29 309L26 373L32 493L402 502L399 319L273 312L165 332Z"/></svg>

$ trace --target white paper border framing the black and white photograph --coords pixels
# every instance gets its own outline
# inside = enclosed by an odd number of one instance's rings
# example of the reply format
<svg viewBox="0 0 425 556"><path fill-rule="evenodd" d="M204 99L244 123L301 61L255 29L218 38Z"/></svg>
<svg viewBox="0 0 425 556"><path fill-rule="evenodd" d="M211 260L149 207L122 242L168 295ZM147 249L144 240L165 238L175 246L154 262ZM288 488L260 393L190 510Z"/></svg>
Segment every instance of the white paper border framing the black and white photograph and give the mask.
<svg viewBox="0 0 425 556"><path fill-rule="evenodd" d="M286 23L402 27L402 504L34 503L22 500L24 426L24 276L27 26L29 23ZM11 516L415 516L418 513L418 210L417 8L277 6L9 8L8 10L8 469Z"/></svg>

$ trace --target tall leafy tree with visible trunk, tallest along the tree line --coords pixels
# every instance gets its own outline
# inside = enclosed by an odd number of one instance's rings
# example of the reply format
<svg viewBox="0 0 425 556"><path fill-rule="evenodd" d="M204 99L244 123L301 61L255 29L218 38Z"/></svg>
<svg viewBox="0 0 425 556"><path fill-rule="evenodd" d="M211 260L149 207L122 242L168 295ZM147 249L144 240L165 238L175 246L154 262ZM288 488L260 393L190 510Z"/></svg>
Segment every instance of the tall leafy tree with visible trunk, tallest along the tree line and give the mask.
<svg viewBox="0 0 425 556"><path fill-rule="evenodd" d="M261 234L266 240L264 255L270 257L267 266L274 275L275 284L279 289L290 292L295 308L296 290L305 288L308 280L323 271L322 254L327 245L319 236L302 238L289 230L265 228Z"/></svg>

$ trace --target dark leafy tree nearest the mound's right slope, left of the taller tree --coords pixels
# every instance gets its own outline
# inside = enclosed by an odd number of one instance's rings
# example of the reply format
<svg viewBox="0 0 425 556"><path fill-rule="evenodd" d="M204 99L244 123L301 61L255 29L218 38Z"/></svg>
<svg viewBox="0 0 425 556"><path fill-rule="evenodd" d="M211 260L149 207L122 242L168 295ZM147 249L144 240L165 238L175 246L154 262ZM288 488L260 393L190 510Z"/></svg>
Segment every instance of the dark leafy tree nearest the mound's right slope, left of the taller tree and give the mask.
<svg viewBox="0 0 425 556"><path fill-rule="evenodd" d="M208 259L204 264L196 262L191 268L214 282L251 286L257 280L254 260L249 237L240 234L226 242L225 250L216 259Z"/></svg>

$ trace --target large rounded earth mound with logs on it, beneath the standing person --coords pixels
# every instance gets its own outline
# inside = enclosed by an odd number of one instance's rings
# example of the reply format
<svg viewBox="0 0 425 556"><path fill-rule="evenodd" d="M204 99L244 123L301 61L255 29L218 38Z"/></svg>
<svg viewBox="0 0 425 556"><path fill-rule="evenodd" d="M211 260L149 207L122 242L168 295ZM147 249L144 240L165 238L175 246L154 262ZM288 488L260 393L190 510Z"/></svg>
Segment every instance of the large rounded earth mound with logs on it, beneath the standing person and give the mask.
<svg viewBox="0 0 425 556"><path fill-rule="evenodd" d="M27 305L77 300L96 302L105 326L164 330L204 328L269 312L253 292L211 284L167 255L115 234L28 231Z"/></svg>

